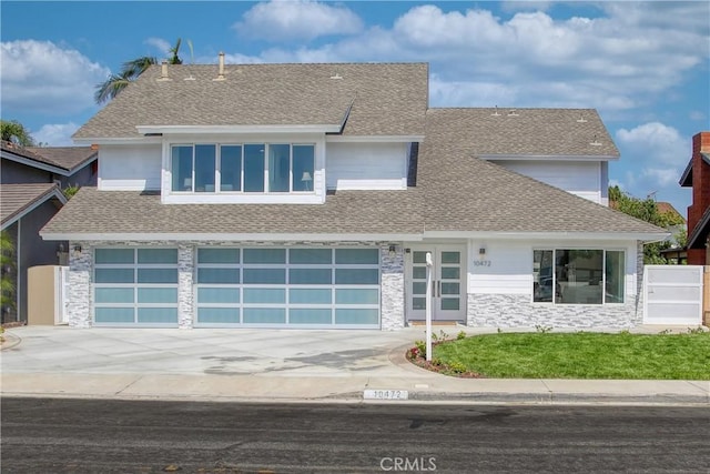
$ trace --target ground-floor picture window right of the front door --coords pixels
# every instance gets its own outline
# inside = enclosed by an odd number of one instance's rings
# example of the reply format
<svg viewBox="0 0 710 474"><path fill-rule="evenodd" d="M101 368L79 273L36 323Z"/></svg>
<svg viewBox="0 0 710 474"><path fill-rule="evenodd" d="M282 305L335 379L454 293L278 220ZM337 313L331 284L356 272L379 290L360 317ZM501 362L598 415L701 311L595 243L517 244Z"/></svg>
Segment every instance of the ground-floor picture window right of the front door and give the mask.
<svg viewBox="0 0 710 474"><path fill-rule="evenodd" d="M556 304L623 303L623 251L532 251L532 300Z"/></svg>

